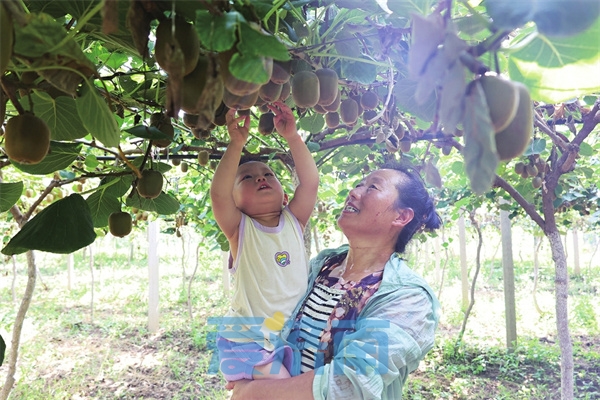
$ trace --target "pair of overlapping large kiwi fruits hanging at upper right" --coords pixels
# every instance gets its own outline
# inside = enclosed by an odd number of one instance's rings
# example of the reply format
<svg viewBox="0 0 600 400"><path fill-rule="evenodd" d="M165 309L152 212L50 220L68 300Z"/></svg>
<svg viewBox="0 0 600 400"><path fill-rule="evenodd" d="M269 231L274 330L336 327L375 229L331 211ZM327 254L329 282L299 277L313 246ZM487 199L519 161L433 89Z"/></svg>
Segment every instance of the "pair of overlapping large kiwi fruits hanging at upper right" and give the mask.
<svg viewBox="0 0 600 400"><path fill-rule="evenodd" d="M494 127L496 152L508 161L525 151L533 134L533 103L527 87L498 75L477 80L485 94Z"/></svg>

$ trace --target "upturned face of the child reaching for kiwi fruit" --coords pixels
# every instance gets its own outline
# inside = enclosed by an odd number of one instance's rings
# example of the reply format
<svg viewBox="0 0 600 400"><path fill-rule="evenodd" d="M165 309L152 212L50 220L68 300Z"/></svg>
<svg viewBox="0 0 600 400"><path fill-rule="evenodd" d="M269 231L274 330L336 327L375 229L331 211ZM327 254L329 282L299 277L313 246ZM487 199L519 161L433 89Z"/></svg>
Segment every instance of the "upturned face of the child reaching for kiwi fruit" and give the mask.
<svg viewBox="0 0 600 400"><path fill-rule="evenodd" d="M286 201L281 183L266 164L250 161L238 167L233 200L249 216L281 211Z"/></svg>

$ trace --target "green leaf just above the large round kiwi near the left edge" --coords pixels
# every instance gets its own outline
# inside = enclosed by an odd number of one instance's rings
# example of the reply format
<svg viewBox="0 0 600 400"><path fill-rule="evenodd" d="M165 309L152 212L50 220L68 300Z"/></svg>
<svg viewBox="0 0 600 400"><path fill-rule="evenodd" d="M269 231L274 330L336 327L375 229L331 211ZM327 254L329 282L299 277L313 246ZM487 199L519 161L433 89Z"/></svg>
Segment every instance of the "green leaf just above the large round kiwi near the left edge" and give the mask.
<svg viewBox="0 0 600 400"><path fill-rule="evenodd" d="M58 96L53 99L46 92L34 91L31 100L35 115L46 122L53 140L74 140L88 134L72 97Z"/></svg>

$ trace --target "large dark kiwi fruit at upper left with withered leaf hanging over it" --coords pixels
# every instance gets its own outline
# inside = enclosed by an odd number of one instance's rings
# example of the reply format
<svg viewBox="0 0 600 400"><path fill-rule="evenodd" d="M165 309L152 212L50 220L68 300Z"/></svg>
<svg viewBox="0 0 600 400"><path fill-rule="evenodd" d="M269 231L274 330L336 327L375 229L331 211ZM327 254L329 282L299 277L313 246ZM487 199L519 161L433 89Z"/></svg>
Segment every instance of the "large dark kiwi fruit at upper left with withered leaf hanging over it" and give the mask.
<svg viewBox="0 0 600 400"><path fill-rule="evenodd" d="M181 68L181 65L175 65L172 61L172 50L176 47L180 47L183 53L183 75L187 75L194 70L198 62L200 41L194 25L182 17L164 19L156 27L154 57L167 73L175 73L177 71L174 68Z"/></svg>

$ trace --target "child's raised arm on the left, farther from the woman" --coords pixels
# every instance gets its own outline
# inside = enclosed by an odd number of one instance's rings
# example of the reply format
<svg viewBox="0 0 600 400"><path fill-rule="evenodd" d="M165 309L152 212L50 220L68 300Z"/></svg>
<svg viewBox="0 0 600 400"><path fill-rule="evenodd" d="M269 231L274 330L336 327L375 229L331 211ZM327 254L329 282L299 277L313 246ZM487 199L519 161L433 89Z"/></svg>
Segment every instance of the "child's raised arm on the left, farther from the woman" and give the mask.
<svg viewBox="0 0 600 400"><path fill-rule="evenodd" d="M237 239L238 227L242 218L242 214L233 200L233 186L250 127L250 117L236 118L235 112L232 109L227 113L227 131L231 140L215 170L210 185L210 199L215 220L230 243L232 238Z"/></svg>

